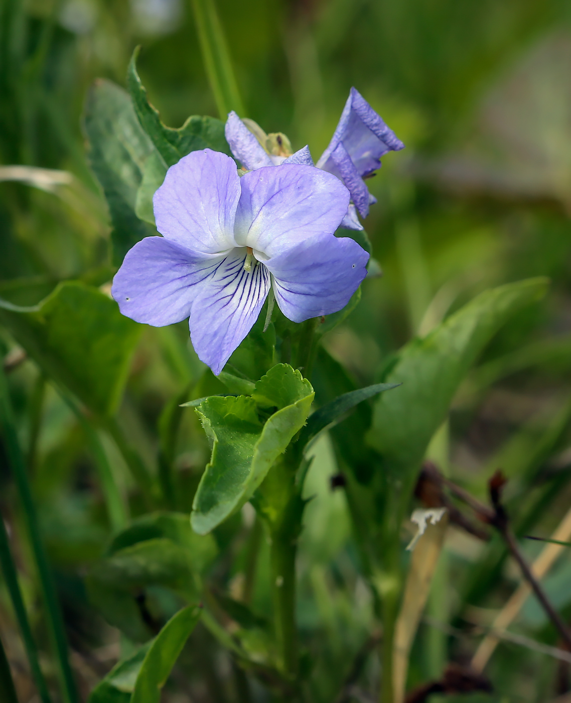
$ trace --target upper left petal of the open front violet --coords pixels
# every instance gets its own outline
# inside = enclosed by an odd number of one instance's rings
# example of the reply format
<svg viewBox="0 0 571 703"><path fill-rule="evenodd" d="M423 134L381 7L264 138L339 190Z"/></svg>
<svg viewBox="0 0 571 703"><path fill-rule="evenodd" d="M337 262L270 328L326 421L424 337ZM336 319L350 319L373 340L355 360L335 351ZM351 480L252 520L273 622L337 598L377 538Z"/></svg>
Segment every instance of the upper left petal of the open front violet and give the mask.
<svg viewBox="0 0 571 703"><path fill-rule="evenodd" d="M152 199L157 229L192 252L226 252L235 245L239 197L239 176L229 156L192 151L169 168Z"/></svg>

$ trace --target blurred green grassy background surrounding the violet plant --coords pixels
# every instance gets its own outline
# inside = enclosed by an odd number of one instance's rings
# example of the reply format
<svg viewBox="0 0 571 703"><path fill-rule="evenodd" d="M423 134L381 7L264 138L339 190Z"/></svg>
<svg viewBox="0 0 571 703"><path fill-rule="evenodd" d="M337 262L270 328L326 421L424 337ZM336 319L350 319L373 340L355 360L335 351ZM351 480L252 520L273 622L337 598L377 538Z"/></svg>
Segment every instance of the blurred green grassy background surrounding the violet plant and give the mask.
<svg viewBox="0 0 571 703"><path fill-rule="evenodd" d="M294 149L308 143L317 160L355 86L406 144L384 157L368 181L379 202L365 228L383 276L365 281L360 306L325 342L362 385L374 382L412 335L424 335L480 290L528 276L551 278L546 301L526 309L487 348L431 448L449 475L480 496L501 465L512 479L508 496L521 529L549 534L571 498L570 4L218 0L217 6L247 109L242 116L265 131L283 131ZM0 297L9 302L35 304L60 280L104 289L110 283L110 228L88 167L81 112L97 77L124 86L137 44L141 79L165 124L216 115L188 0L0 0ZM32 178L6 169L13 165L65 173ZM2 334L21 439L37 440L34 494L86 695L119 657L118 633L88 605L81 580L103 552L110 527L81 426L55 390L44 389L32 362L18 363L18 349ZM187 336L185 323L145 328L131 368L120 421L150 466L157 418L203 368ZM44 393L38 433L37 394ZM129 493L122 458L107 437L102 441ZM299 620L304 645L321 652L313 683L315 702L325 703L334 700L374 619L343 495L329 490L336 468L327 441L316 451L308 491L317 498L300 557ZM179 510L190 509L206 458L206 442L188 411L176 446ZM12 498L3 462L1 508L17 525ZM138 500L133 493L133 515L143 510ZM218 541L237 561L233 567L230 557L219 562L216 579L232 592L244 544L227 533ZM539 549L525 548L529 555ZM45 640L27 546L16 539L15 549L34 627ZM255 602L267 612L264 564ZM476 639L458 638L446 626L490 624L518 579L493 544L484 547L460 533L449 538L441 567L428 609L445 628L421 626L411 685L438 677L450 657L466 660ZM569 557L550 578L554 602L571 616ZM556 644L532 600L516 626ZM34 690L4 588L0 630L20 700L31 702ZM191 639L183 657L190 683L179 685L175 676L167 699L238 700L228 657L205 631ZM569 689L567 665L520 645L500 645L488 673L498 702L539 703ZM369 700L378 678L370 658L355 684L362 697L355 699ZM255 697L265 700L257 688Z"/></svg>

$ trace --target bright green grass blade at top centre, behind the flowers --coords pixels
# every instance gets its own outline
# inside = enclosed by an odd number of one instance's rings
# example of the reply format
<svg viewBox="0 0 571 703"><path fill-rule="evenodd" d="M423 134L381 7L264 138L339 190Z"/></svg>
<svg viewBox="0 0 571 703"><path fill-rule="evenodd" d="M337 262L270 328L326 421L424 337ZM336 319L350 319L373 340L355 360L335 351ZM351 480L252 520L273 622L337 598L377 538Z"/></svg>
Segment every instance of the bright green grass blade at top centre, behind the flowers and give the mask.
<svg viewBox="0 0 571 703"><path fill-rule="evenodd" d="M245 117L244 105L232 70L230 51L228 51L214 0L192 0L192 8L195 12L206 75L208 75L221 120L226 120L230 110L235 110Z"/></svg>

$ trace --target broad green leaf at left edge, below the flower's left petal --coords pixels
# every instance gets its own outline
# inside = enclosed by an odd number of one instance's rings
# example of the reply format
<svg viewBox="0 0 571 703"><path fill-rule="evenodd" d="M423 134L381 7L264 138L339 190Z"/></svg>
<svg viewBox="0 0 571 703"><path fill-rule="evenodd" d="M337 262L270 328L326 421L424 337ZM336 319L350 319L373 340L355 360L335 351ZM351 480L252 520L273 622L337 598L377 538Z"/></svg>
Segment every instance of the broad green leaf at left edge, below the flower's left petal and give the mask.
<svg viewBox="0 0 571 703"><path fill-rule="evenodd" d="M112 299L83 283L60 283L34 307L0 299L0 322L93 413L114 414L141 328Z"/></svg>

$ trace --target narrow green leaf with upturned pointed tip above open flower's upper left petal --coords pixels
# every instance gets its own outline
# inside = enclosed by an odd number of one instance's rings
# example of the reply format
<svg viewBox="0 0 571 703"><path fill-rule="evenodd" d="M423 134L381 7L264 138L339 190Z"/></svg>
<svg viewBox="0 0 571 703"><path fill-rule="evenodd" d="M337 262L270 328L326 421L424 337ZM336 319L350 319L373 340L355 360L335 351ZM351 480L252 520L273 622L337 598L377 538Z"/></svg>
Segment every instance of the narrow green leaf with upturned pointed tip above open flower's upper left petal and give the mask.
<svg viewBox="0 0 571 703"><path fill-rule="evenodd" d="M193 115L188 117L180 129L164 126L159 112L147 100L147 91L140 82L136 67L138 52L139 47L133 51L129 62L127 86L138 120L155 144L157 152L164 161L164 166L176 164L183 156L197 149L210 148L230 155L228 142L224 136L224 123L215 117Z"/></svg>

